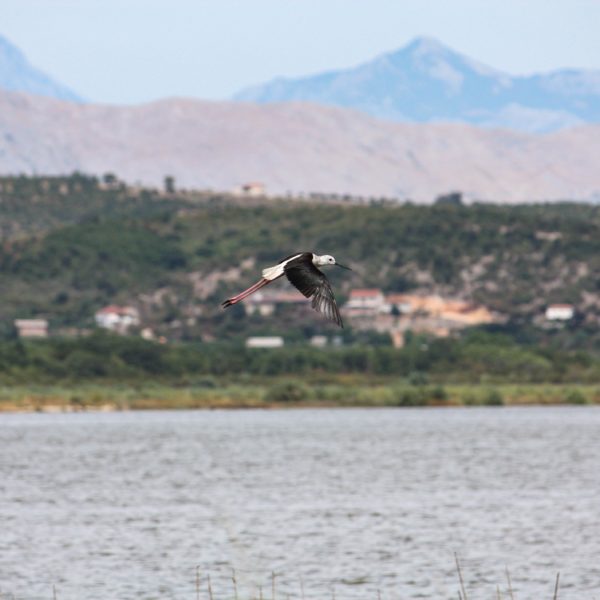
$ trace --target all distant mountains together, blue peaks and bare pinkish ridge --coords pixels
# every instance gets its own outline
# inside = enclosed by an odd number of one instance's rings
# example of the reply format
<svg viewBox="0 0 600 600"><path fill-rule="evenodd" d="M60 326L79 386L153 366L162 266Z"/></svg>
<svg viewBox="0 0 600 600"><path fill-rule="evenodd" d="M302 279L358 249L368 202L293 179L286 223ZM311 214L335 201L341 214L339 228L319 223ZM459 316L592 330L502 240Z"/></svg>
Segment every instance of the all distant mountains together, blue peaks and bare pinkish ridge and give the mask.
<svg viewBox="0 0 600 600"><path fill-rule="evenodd" d="M539 135L461 122L595 123L600 73L511 78L418 39L350 71L238 98L253 102L83 104L0 38L0 174L114 172L151 185L172 175L188 188L261 181L270 194L416 202L454 190L496 202L600 200L600 124Z"/></svg>

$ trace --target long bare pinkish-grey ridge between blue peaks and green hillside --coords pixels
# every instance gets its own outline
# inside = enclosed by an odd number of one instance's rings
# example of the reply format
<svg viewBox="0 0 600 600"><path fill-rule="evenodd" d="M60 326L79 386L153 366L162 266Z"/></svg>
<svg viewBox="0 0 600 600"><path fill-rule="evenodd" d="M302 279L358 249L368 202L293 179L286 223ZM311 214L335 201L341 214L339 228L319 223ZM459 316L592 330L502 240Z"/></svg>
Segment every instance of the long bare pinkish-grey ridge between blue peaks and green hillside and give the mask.
<svg viewBox="0 0 600 600"><path fill-rule="evenodd" d="M310 103L77 104L0 91L0 173L116 173L130 182L428 202L600 199L600 125L535 135L408 124Z"/></svg>

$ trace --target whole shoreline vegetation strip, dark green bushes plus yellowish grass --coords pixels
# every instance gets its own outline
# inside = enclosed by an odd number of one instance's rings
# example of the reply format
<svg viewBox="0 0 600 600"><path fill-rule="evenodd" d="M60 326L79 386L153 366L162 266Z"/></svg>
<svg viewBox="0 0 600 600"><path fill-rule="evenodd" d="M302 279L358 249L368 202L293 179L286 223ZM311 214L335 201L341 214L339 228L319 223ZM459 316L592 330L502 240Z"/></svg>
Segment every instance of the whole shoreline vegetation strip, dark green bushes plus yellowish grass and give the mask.
<svg viewBox="0 0 600 600"><path fill-rule="evenodd" d="M409 336L402 349L256 350L103 331L0 342L0 410L599 402L600 358L497 331Z"/></svg>

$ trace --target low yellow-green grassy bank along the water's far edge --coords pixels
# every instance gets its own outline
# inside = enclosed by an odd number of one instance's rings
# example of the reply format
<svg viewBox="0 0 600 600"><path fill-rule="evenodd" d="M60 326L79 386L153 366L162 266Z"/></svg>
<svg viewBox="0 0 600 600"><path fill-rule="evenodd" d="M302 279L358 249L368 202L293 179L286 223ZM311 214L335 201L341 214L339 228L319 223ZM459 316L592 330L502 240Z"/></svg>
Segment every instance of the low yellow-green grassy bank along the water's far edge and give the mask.
<svg viewBox="0 0 600 600"><path fill-rule="evenodd" d="M415 385L404 381L279 378L194 385L76 384L0 387L0 411L51 412L298 406L501 406L600 404L596 385Z"/></svg>

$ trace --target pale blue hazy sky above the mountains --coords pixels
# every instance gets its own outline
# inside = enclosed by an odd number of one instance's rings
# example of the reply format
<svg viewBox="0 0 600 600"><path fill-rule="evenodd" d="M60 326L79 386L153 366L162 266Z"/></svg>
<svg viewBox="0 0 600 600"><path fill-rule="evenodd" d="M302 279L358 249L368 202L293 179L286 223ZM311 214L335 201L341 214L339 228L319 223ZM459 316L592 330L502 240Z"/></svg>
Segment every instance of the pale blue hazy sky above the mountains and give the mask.
<svg viewBox="0 0 600 600"><path fill-rule="evenodd" d="M600 0L0 0L0 34L93 101L221 99L418 35L526 74L600 69Z"/></svg>

